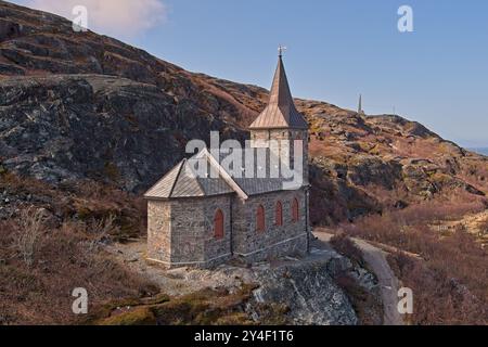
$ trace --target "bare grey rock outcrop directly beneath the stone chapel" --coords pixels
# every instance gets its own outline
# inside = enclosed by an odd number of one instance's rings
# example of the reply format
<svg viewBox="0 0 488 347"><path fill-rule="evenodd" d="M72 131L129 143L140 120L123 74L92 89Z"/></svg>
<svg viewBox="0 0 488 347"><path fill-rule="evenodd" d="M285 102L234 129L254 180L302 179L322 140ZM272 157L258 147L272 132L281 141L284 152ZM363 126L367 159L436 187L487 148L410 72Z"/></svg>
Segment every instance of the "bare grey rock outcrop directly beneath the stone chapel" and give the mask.
<svg viewBox="0 0 488 347"><path fill-rule="evenodd" d="M194 300L185 299L188 295L194 297L200 291L221 292L217 307L222 311L226 305L232 305L230 314L220 312L221 323L235 313L240 313L240 321L233 323L259 324L305 324L305 325L356 325L382 324L383 305L380 294L381 285L376 277L360 261L342 256L330 245L313 242L312 255L306 259L283 258L280 261L261 262L249 268L223 265L213 270L172 269L162 270L147 266L141 256L145 253L145 243L115 244L111 253L136 273L144 273L170 297L180 297L187 306L197 306ZM241 299L227 297L229 294L243 294L243 290L251 290L249 295ZM208 298L208 295L205 295ZM228 304L221 303L227 301ZM244 299L244 300L243 300ZM223 305L222 305L223 304ZM210 307L215 304L210 304ZM155 314L143 314L158 321L158 306L146 306ZM172 307L182 311L184 307ZM132 308L133 309L133 308ZM198 307L194 311L202 310ZM167 313L166 310L163 311ZM208 312L208 311L207 311ZM115 314L114 314L115 313ZM123 313L123 314L117 314ZM216 313L216 312L215 312ZM214 313L214 316L215 316ZM95 323L120 323L133 318L134 312L112 311L111 318L95 314ZM153 317L155 316L155 317ZM184 317L184 314L182 314ZM202 318L208 313L193 314L202 323ZM200 321L198 321L200 317ZM242 319L244 318L244 320ZM102 320L100 320L102 319ZM166 318L167 319L167 318ZM195 319L195 318L194 318ZM222 321L224 320L224 321ZM167 321L165 321L167 323ZM215 323L216 319L210 321Z"/></svg>

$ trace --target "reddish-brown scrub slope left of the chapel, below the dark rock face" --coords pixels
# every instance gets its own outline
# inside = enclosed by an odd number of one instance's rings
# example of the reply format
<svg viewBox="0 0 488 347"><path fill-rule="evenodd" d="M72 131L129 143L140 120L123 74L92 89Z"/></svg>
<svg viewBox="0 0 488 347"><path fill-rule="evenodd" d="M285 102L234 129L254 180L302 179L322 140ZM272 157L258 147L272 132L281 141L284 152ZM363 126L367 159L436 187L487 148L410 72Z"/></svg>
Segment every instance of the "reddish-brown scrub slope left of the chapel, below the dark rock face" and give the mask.
<svg viewBox="0 0 488 347"><path fill-rule="evenodd" d="M158 292L103 250L143 232L139 200L95 183L51 187L12 174L0 176L0 189L14 196L8 208L15 211L0 221L0 325L76 323L76 287L87 288L90 309Z"/></svg>

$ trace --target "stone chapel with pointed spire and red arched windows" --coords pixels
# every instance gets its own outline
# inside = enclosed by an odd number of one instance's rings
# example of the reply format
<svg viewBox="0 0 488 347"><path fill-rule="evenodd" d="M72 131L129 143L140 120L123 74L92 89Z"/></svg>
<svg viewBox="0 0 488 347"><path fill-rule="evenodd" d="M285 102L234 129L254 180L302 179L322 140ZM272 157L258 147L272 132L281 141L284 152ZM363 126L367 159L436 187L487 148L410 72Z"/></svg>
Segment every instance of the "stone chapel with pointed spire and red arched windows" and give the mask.
<svg viewBox="0 0 488 347"><path fill-rule="evenodd" d="M295 107L281 53L269 103L249 132L251 147L270 157L277 151L271 140L288 140L290 157L303 151L303 183L285 190L282 177L234 177L207 150L197 156L217 177L187 175L191 159L182 160L144 195L149 261L211 268L231 259L253 264L309 252L308 124ZM303 145L295 147L297 141Z"/></svg>

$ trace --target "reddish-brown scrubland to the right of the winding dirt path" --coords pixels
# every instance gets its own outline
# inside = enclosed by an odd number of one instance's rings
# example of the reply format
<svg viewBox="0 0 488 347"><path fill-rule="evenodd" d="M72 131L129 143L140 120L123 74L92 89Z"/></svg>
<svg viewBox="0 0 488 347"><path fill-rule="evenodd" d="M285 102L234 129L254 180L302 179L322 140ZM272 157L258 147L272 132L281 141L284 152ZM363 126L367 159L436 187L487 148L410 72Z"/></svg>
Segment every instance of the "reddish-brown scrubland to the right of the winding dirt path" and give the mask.
<svg viewBox="0 0 488 347"><path fill-rule="evenodd" d="M341 230L348 235L420 255L390 257L393 268L415 296L413 324L488 323L488 257L465 230L445 235L427 224L485 208L483 203L424 204L371 216Z"/></svg>

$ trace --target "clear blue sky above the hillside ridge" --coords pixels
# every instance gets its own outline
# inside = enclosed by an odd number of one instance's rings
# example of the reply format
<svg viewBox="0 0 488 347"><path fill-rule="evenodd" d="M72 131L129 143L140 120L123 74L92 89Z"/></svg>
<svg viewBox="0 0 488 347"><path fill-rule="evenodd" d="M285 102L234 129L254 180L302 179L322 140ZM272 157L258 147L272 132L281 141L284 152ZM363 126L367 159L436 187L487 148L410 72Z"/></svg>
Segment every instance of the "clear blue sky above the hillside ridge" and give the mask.
<svg viewBox="0 0 488 347"><path fill-rule="evenodd" d="M267 88L283 43L295 97L356 110L362 93L368 114L395 106L449 140L488 146L486 0L154 1L166 20L120 39L193 72ZM397 29L402 4L413 9L414 33Z"/></svg>

